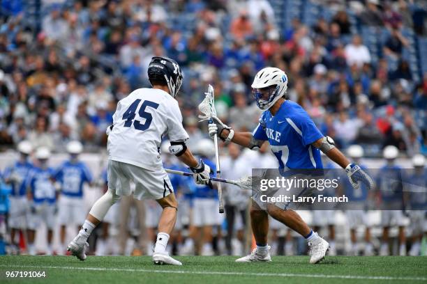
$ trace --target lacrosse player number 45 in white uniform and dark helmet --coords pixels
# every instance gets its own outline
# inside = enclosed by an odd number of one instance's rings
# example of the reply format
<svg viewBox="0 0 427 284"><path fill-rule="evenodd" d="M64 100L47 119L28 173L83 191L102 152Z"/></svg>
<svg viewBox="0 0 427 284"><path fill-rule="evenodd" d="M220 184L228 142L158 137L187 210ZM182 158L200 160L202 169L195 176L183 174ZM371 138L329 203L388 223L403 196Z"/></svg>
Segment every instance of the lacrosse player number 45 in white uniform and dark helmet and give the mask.
<svg viewBox="0 0 427 284"><path fill-rule="evenodd" d="M182 84L181 69L170 58L153 57L148 68L153 88L134 90L117 104L113 125L107 128L108 191L91 208L79 234L68 245L80 260L86 259L87 238L108 209L121 196L155 199L163 208L158 223L153 262L157 265L181 265L166 251L177 219L178 203L174 189L162 166L159 148L163 135L171 141L169 151L190 167L199 184L209 183L211 169L197 161L186 146L188 134L182 125L177 96ZM135 191L130 190L130 182Z"/></svg>

